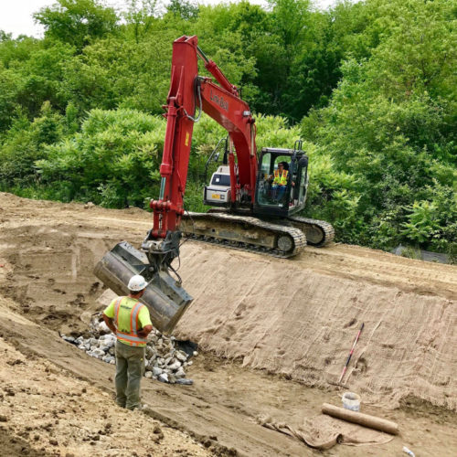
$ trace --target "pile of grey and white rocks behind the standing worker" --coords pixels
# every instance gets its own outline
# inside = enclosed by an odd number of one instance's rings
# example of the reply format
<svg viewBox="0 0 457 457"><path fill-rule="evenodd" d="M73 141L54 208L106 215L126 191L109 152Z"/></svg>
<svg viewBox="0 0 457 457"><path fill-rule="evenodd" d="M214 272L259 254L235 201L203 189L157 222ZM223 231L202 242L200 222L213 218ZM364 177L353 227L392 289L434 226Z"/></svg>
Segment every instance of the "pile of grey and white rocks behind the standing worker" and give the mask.
<svg viewBox="0 0 457 457"><path fill-rule="evenodd" d="M105 329L103 325L97 325L96 328L92 326L90 337L62 335L62 338L77 345L88 356L100 358L103 362L114 365L116 337L112 333L105 333L109 329L106 325ZM197 356L197 351L189 355L175 346L175 336L165 336L155 330L148 336L144 376L170 384L192 384L192 379L186 378L185 371L186 367L193 363L189 360L190 356Z"/></svg>

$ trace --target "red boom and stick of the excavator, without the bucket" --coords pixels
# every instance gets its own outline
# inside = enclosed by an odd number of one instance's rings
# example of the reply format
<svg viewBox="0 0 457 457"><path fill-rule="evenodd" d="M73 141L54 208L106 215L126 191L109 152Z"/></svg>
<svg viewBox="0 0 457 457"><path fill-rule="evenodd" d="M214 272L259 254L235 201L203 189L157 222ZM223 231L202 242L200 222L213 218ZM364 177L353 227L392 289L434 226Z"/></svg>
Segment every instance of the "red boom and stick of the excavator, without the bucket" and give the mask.
<svg viewBox="0 0 457 457"><path fill-rule="evenodd" d="M218 80L199 77L197 56L207 70ZM180 37L173 45L171 84L165 105L167 119L164 154L160 174L160 195L151 202L154 227L150 239L165 239L169 231L179 228L184 213L187 168L194 123L201 112L222 125L231 143L230 167L231 198L235 204L240 193L254 200L257 174L257 154L254 119L250 107L239 98L238 89L230 84L218 66L209 60L197 46L197 37ZM199 112L197 119L195 113ZM238 175L235 172L235 148Z"/></svg>

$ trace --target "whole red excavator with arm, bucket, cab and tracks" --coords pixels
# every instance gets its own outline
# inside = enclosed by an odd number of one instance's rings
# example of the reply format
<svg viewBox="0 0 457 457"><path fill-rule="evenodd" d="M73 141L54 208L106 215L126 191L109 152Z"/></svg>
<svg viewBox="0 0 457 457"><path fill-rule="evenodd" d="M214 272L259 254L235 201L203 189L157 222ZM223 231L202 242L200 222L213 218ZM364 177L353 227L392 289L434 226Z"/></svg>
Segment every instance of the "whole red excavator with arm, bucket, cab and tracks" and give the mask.
<svg viewBox="0 0 457 457"><path fill-rule="evenodd" d="M218 84L198 76L197 58ZM195 36L180 37L173 44L164 108L167 123L160 195L150 204L153 228L141 250L122 241L101 259L95 274L118 294L128 292L133 274L142 274L149 285L141 301L148 306L155 327L170 333L192 302L172 266L183 234L286 258L301 252L307 243L328 244L334 229L324 221L296 216L304 207L308 186L308 157L302 142L296 141L291 149L262 148L258 154L249 105L197 46ZM207 161L206 169L218 165L203 197L213 208L207 213L187 213L184 196L192 133L202 112L222 125L228 138L220 165L218 146Z"/></svg>

